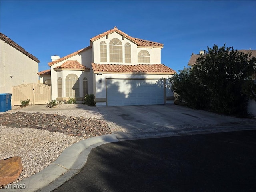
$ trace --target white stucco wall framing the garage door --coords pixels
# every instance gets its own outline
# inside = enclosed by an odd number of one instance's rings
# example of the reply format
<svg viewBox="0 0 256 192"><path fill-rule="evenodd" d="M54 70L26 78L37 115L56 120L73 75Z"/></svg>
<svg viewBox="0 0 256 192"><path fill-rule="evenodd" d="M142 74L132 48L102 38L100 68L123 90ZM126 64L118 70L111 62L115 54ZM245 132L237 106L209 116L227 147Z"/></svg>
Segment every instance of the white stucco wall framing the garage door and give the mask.
<svg viewBox="0 0 256 192"><path fill-rule="evenodd" d="M172 75L157 75L157 74L94 74L95 79L95 100L96 106L106 106L106 78L120 78L120 79L166 79L166 97L172 97L173 93L170 89L171 84L168 78ZM100 78L102 83L100 83ZM120 90L122 92L122 90ZM98 101L98 102L97 102ZM105 101L105 102L104 102ZM171 102L166 102L171 103Z"/></svg>

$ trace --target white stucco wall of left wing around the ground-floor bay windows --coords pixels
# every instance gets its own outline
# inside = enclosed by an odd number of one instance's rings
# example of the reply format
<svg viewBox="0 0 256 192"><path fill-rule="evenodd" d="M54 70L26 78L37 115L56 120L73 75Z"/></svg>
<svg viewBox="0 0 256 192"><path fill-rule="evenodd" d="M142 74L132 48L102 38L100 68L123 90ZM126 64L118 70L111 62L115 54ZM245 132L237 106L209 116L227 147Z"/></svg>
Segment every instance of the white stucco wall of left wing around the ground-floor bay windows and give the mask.
<svg viewBox="0 0 256 192"><path fill-rule="evenodd" d="M90 71L78 71L78 70L54 70L55 67L62 65L68 60L77 60L80 64L90 68ZM51 81L52 81L52 100L58 97L57 80L58 77L62 78L62 97L66 98L66 84L65 79L68 74L76 74L79 78L79 96L83 97L83 78L88 80L88 94L93 93L92 82L92 49L85 50L80 54L74 55L66 60L58 62L51 66ZM53 83L54 82L54 83Z"/></svg>

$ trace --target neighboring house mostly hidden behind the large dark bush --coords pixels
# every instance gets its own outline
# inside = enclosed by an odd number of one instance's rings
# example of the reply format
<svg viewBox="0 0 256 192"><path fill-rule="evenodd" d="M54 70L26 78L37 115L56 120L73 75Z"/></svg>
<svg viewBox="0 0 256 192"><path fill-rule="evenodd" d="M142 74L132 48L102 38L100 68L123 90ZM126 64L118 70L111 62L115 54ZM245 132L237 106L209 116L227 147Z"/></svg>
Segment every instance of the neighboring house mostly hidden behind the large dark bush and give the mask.
<svg viewBox="0 0 256 192"><path fill-rule="evenodd" d="M252 54L252 57L256 57L256 50L238 50L239 52L243 53L249 53ZM200 57L200 54L204 54L204 51L200 51L199 54L192 53L190 60L188 61L188 66L193 66L196 64L196 60ZM253 79L255 80L256 74L254 74ZM249 114L252 114L253 116L256 116L256 101L249 100L248 106L247 106L247 112Z"/></svg>

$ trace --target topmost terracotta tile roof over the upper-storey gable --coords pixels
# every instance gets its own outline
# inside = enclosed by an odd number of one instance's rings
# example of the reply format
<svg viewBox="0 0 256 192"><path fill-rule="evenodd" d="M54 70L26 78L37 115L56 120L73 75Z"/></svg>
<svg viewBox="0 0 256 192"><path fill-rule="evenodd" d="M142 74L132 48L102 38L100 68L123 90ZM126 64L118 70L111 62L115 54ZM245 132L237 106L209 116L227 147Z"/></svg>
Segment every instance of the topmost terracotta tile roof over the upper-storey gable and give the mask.
<svg viewBox="0 0 256 192"><path fill-rule="evenodd" d="M136 43L138 46L152 46L152 47L161 47L163 48L163 45L162 43L157 43L157 42L153 42L153 41L148 41L148 40L143 40L143 39L138 39L138 38L134 38L134 37L131 37L129 36L128 34L122 32L121 30L119 30L117 27L114 27L114 29L110 29L102 34L99 34L99 35L96 35L94 36L93 38L90 39L90 46L92 46L92 42L99 39L99 38L102 38L104 36L106 36L107 34L111 34L113 32L118 32L119 34L125 36L126 38L128 38L129 40L133 41L134 43Z"/></svg>

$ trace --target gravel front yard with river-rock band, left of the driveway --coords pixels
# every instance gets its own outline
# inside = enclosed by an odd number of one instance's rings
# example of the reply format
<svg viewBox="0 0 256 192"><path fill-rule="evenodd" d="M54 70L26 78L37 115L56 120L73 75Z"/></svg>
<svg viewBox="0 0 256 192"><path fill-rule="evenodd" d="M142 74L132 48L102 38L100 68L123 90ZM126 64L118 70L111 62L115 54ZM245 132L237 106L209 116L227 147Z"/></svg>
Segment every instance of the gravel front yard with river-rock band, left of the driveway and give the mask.
<svg viewBox="0 0 256 192"><path fill-rule="evenodd" d="M65 122L58 125L59 130L56 128L53 131L50 128L57 124L56 116L60 116L60 121ZM46 168L73 143L93 136L111 134L98 109L84 104L62 104L47 111L25 111L19 106L12 106L12 110L0 113L0 118L0 159L13 156L20 156L22 159L23 171L14 183ZM83 128L78 123L82 120L85 123ZM2 126L4 122L6 126ZM40 122L42 124L39 125Z"/></svg>

